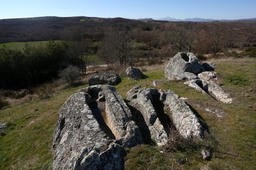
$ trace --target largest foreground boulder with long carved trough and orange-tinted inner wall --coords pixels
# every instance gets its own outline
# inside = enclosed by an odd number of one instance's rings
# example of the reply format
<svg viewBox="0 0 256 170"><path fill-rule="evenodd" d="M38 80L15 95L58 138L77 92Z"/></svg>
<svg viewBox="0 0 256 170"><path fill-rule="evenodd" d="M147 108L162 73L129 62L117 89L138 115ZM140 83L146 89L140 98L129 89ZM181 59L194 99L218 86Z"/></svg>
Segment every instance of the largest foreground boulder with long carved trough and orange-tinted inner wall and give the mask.
<svg viewBox="0 0 256 170"><path fill-rule="evenodd" d="M124 169L125 147L142 144L121 95L109 85L79 90L59 111L53 169Z"/></svg>

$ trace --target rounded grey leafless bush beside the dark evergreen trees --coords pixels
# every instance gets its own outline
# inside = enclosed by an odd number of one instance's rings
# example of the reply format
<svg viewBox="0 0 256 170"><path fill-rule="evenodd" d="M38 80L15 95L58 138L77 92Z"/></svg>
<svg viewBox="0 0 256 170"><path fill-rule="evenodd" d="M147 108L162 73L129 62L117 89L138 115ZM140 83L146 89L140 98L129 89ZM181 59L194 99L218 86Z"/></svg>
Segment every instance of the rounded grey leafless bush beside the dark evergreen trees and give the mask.
<svg viewBox="0 0 256 170"><path fill-rule="evenodd" d="M74 85L75 81L79 79L80 71L75 66L69 66L59 72L59 77L68 85Z"/></svg>

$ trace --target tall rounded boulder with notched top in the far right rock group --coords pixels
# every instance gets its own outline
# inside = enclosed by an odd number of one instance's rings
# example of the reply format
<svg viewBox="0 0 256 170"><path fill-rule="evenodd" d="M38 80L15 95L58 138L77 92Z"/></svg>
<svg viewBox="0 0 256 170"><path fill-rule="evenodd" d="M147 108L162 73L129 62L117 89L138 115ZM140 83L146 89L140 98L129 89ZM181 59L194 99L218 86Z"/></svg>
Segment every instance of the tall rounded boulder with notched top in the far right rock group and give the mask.
<svg viewBox="0 0 256 170"><path fill-rule="evenodd" d="M202 64L193 53L180 52L169 60L164 75L169 80L189 80L203 71Z"/></svg>

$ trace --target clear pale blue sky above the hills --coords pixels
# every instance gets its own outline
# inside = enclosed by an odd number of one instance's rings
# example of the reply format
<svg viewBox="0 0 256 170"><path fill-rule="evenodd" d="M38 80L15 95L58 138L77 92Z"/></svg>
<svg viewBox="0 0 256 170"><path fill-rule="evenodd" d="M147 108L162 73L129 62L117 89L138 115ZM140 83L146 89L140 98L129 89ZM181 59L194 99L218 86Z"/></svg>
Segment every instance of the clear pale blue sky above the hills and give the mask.
<svg viewBox="0 0 256 170"><path fill-rule="evenodd" d="M41 16L173 17L245 19L256 17L255 0L1 0L0 19Z"/></svg>

